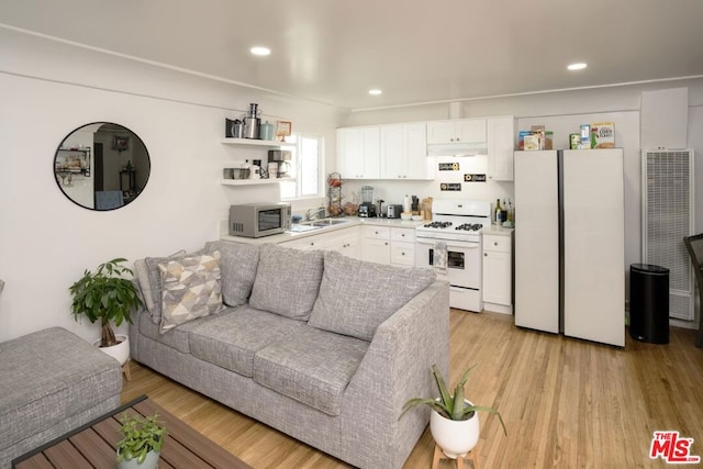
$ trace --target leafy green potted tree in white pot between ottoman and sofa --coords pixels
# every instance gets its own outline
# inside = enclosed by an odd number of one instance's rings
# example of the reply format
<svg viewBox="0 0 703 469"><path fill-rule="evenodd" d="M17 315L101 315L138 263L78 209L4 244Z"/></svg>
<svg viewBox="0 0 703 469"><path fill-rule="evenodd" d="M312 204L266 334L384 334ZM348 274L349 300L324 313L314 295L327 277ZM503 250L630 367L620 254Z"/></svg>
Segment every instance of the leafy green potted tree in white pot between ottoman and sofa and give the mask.
<svg viewBox="0 0 703 469"><path fill-rule="evenodd" d="M98 266L94 273L86 270L80 280L68 289L72 298L70 312L74 319L78 321L80 316L86 316L93 324L100 321L100 347L122 365L130 351L127 336L122 336L121 342L118 340L112 331L112 323L118 326L123 321L132 323L132 310L142 305L135 284L123 277L127 273L133 275L132 269L122 265L125 261L124 258L116 258ZM120 349L108 349L114 346ZM126 350L126 356L122 349Z"/></svg>

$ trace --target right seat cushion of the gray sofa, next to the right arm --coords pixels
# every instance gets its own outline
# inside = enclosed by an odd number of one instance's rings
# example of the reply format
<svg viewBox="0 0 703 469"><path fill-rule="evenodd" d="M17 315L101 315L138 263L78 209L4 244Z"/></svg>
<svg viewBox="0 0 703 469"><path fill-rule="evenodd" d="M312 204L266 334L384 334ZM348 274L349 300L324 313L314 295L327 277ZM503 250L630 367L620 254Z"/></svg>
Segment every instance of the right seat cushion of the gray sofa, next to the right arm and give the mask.
<svg viewBox="0 0 703 469"><path fill-rule="evenodd" d="M254 356L254 380L283 395L339 415L342 397L369 343L304 325Z"/></svg>

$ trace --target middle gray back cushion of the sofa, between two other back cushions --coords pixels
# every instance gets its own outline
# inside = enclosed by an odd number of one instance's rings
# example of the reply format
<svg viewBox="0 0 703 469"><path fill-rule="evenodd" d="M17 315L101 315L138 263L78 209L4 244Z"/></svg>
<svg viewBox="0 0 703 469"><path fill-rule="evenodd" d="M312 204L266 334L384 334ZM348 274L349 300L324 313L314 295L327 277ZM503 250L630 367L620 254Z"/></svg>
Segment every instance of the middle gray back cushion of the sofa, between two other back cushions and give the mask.
<svg viewBox="0 0 703 469"><path fill-rule="evenodd" d="M252 308L308 321L322 279L323 252L261 246Z"/></svg>

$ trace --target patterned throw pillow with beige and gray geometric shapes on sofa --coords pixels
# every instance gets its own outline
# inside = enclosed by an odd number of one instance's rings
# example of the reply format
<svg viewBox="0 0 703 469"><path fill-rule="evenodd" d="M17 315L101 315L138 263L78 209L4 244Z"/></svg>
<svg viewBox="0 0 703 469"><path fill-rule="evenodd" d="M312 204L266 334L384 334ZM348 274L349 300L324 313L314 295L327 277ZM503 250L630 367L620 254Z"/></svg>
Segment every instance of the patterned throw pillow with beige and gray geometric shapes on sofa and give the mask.
<svg viewBox="0 0 703 469"><path fill-rule="evenodd" d="M161 334L224 308L220 287L220 252L161 263L158 268L164 282Z"/></svg>

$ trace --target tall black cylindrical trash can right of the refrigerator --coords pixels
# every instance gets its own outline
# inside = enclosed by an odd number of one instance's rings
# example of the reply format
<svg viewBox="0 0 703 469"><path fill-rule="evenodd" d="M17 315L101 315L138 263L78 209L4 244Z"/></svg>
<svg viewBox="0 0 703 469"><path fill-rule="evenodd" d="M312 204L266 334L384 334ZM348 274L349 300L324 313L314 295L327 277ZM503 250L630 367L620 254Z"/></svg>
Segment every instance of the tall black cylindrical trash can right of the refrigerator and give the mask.
<svg viewBox="0 0 703 469"><path fill-rule="evenodd" d="M669 269L629 266L629 335L650 344L669 343Z"/></svg>

